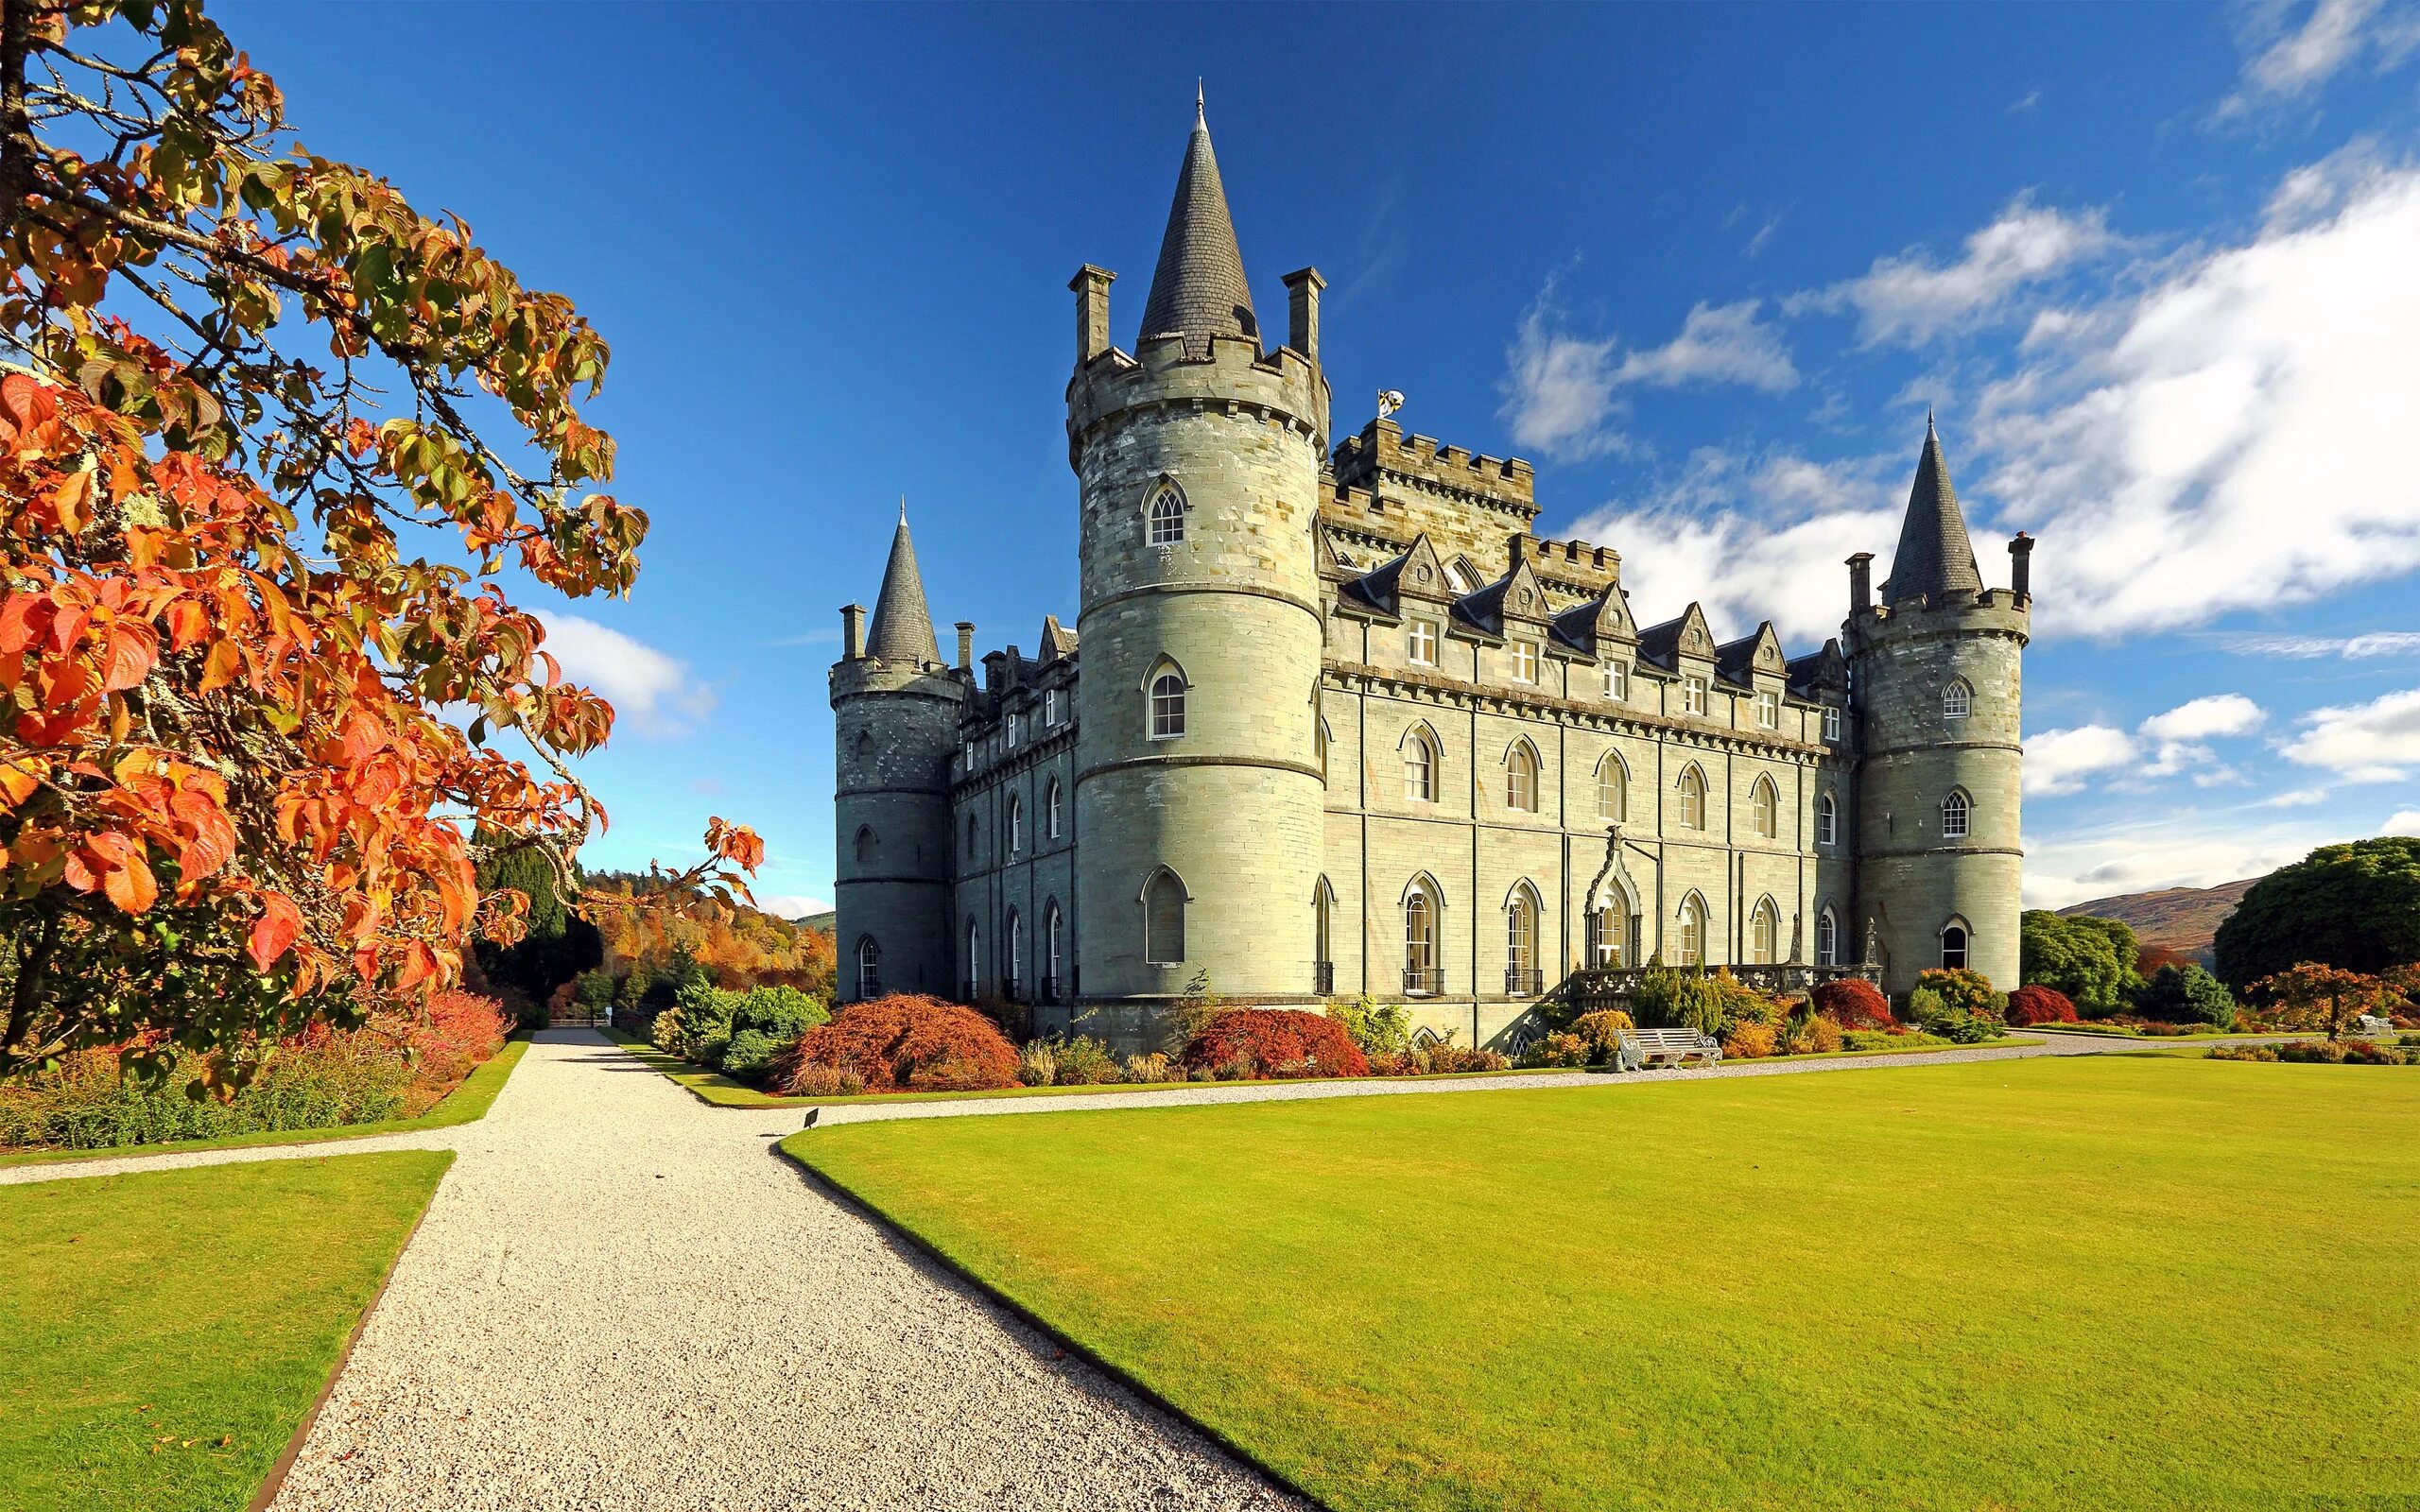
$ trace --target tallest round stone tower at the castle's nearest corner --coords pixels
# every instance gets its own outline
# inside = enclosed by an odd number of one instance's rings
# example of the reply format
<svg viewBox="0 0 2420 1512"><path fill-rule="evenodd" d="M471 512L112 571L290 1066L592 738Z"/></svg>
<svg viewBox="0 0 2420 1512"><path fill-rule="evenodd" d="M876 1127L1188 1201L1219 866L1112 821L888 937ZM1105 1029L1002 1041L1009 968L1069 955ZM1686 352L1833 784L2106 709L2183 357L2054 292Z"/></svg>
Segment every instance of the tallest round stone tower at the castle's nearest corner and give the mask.
<svg viewBox="0 0 2420 1512"><path fill-rule="evenodd" d="M1108 344L1108 281L1072 283L1067 385L1079 999L1152 1009L1205 973L1237 1002L1312 1002L1319 276L1287 278L1290 344L1263 351L1195 114L1137 356Z"/></svg>

